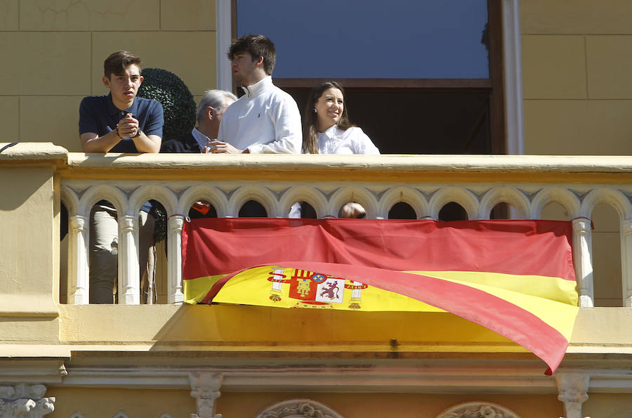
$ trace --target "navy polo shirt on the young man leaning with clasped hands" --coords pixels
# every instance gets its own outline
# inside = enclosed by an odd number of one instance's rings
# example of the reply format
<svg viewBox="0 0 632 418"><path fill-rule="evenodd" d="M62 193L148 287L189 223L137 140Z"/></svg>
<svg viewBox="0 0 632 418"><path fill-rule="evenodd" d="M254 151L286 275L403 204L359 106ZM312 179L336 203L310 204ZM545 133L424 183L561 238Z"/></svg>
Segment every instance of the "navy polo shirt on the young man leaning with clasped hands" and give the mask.
<svg viewBox="0 0 632 418"><path fill-rule="evenodd" d="M112 94L107 96L88 96L79 105L79 135L94 132L104 136L117 129L117 123L126 114L131 113L138 120L140 130L145 135L157 135L162 138L164 115L162 105L157 100L143 97L134 98L134 103L127 110L119 110L112 103ZM110 152L138 152L131 138L123 138Z"/></svg>

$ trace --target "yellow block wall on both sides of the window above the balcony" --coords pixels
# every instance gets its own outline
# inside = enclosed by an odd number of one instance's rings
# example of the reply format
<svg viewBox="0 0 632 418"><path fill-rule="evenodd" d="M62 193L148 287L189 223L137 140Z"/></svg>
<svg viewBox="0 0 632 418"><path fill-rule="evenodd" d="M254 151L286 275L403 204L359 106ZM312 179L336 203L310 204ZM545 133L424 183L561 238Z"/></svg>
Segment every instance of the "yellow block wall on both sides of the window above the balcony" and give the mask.
<svg viewBox="0 0 632 418"><path fill-rule="evenodd" d="M632 4L524 0L520 13L527 154L630 154ZM199 98L216 86L215 1L0 1L0 55L20 63L0 68L5 141L78 151L79 101L107 93L103 60L119 49Z"/></svg>

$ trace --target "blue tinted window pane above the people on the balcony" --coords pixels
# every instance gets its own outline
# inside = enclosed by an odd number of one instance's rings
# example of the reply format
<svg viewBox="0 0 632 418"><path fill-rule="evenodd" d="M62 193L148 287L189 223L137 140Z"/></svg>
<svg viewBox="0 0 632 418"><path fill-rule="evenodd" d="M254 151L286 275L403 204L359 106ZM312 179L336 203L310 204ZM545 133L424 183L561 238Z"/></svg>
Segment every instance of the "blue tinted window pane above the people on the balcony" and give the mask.
<svg viewBox="0 0 632 418"><path fill-rule="evenodd" d="M237 35L265 34L275 77L489 78L487 0L237 0Z"/></svg>

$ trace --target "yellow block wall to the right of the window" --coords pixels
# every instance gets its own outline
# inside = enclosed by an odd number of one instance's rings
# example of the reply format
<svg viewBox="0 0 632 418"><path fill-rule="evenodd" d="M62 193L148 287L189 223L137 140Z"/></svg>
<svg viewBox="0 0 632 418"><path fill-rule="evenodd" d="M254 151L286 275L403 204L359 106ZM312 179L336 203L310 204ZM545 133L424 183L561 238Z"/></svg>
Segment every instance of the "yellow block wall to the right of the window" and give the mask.
<svg viewBox="0 0 632 418"><path fill-rule="evenodd" d="M523 0L526 154L632 153L632 2Z"/></svg>

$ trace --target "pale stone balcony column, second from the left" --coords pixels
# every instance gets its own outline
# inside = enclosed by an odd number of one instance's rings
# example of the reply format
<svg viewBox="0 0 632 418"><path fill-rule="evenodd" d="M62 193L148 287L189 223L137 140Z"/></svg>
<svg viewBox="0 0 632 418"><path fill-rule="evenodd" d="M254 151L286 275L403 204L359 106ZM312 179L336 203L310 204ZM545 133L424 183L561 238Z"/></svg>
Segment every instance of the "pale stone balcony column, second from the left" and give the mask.
<svg viewBox="0 0 632 418"><path fill-rule="evenodd" d="M138 215L119 216L119 304L140 304Z"/></svg>

